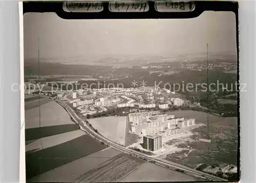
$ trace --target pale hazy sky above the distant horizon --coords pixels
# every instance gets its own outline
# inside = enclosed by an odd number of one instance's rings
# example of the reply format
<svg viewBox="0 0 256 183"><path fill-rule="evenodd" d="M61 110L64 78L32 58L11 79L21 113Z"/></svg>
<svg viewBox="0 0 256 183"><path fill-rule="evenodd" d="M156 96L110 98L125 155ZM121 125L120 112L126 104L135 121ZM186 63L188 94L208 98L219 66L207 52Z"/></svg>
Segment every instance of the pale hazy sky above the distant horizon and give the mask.
<svg viewBox="0 0 256 183"><path fill-rule="evenodd" d="M190 19L66 20L55 13L24 15L25 59L99 55L236 53L233 12L203 12Z"/></svg>

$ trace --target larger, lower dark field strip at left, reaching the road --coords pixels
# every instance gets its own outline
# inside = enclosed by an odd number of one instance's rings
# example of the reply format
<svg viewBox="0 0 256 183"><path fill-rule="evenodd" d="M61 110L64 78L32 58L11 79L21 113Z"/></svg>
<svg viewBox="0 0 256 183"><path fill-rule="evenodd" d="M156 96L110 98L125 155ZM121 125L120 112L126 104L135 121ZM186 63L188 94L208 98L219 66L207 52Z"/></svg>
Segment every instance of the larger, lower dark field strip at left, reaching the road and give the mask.
<svg viewBox="0 0 256 183"><path fill-rule="evenodd" d="M106 148L89 135L83 135L71 141L26 154L26 178L57 168L83 156ZM31 150L33 151L33 150Z"/></svg>

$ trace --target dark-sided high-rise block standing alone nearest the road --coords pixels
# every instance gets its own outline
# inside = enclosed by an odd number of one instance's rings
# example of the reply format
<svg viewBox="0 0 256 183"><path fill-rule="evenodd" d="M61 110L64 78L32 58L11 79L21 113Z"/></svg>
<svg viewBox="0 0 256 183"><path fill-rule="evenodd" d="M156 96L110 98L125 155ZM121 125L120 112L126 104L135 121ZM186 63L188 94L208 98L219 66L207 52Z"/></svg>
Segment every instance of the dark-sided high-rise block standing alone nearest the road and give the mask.
<svg viewBox="0 0 256 183"><path fill-rule="evenodd" d="M161 136L157 134L147 135L143 137L143 148L151 151L158 150L162 147Z"/></svg>

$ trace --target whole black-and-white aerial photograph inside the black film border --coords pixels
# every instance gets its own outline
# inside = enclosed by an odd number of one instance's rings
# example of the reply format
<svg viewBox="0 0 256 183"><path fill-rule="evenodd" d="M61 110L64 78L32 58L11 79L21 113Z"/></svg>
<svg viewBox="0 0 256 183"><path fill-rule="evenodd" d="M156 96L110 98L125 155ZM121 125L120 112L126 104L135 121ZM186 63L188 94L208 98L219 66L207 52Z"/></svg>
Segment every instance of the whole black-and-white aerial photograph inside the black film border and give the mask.
<svg viewBox="0 0 256 183"><path fill-rule="evenodd" d="M236 15L24 14L27 182L236 181Z"/></svg>

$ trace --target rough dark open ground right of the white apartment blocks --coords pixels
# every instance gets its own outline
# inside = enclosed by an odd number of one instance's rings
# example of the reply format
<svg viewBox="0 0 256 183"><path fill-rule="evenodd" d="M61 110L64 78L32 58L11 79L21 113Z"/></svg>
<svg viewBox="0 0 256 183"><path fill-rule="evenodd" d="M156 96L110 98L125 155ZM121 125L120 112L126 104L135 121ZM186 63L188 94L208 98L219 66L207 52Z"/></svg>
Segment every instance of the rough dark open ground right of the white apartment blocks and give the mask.
<svg viewBox="0 0 256 183"><path fill-rule="evenodd" d="M207 124L207 113L197 111L172 112L176 116L185 118L195 118L196 123ZM235 117L218 117L209 114L209 128L206 125L193 129L194 133L190 137L184 138L180 143L176 143L178 148L190 146L191 152L176 163L184 164L195 168L200 163L208 165L218 165L227 163L237 165L238 151L238 119ZM200 141L209 139L210 142ZM173 143L173 142L170 142ZM179 154L176 153L175 156ZM173 161L166 157L166 160Z"/></svg>

